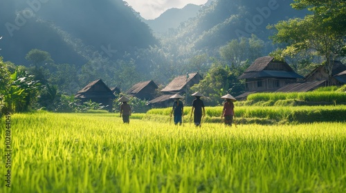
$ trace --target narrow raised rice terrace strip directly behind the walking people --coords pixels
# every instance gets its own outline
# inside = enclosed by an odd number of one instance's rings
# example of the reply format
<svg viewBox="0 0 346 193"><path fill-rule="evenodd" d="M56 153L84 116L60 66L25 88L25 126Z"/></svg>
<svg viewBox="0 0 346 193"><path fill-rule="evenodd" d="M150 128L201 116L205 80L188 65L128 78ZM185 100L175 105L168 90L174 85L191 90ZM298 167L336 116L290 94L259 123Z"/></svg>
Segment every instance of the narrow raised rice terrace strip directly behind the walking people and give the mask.
<svg viewBox="0 0 346 193"><path fill-rule="evenodd" d="M208 123L220 123L221 106L206 108ZM144 118L155 121L169 121L172 108L152 109ZM191 107L184 108L184 120L190 121ZM237 106L235 103L235 118L241 123L259 120L261 124L297 124L314 122L346 122L346 105L318 106Z"/></svg>

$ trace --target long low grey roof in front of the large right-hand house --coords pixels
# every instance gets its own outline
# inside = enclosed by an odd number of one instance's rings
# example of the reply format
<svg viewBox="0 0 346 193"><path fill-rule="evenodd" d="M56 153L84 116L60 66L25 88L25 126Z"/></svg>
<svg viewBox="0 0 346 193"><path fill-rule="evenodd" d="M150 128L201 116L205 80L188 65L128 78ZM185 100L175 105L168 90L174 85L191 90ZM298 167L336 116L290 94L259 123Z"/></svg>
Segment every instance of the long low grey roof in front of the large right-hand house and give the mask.
<svg viewBox="0 0 346 193"><path fill-rule="evenodd" d="M309 81L304 83L290 83L279 88L275 92L307 92L325 85L326 81Z"/></svg>

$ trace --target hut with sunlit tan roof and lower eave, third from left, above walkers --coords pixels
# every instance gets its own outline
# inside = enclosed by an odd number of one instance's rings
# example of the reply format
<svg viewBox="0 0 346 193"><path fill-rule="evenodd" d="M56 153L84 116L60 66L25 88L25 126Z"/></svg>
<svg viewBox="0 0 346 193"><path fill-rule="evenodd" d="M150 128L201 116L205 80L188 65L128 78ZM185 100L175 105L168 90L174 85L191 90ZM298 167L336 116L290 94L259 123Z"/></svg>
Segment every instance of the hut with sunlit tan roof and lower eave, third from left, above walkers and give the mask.
<svg viewBox="0 0 346 193"><path fill-rule="evenodd" d="M202 77L198 72L175 77L165 88L163 88L163 90L161 90L162 95L149 101L149 105L152 105L155 108L169 107L174 101L173 99L170 99L170 96L173 96L174 94L186 94L187 90L189 90L192 85L198 84L201 79ZM185 101L185 103L186 102L187 101Z"/></svg>

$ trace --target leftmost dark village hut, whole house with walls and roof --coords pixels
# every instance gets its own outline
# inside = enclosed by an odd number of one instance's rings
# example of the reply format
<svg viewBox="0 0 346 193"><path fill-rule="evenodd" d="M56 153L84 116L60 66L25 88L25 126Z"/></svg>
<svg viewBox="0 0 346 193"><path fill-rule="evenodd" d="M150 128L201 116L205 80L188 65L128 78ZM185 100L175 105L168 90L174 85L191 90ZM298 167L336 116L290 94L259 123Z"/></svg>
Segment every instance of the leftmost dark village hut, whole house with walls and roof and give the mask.
<svg viewBox="0 0 346 193"><path fill-rule="evenodd" d="M75 94L75 99L80 99L82 103L92 101L104 105L109 112L113 108L113 100L116 99L111 89L101 80L95 80L86 85Z"/></svg>

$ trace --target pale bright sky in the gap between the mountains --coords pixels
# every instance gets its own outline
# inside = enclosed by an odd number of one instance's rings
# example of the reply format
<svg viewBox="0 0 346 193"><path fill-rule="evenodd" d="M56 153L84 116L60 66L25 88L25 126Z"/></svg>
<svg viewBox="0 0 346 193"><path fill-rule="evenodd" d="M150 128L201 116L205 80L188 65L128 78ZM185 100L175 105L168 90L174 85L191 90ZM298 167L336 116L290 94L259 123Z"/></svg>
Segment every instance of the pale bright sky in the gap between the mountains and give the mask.
<svg viewBox="0 0 346 193"><path fill-rule="evenodd" d="M183 8L189 3L203 5L208 0L123 0L144 19L155 19L170 8Z"/></svg>

